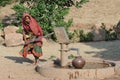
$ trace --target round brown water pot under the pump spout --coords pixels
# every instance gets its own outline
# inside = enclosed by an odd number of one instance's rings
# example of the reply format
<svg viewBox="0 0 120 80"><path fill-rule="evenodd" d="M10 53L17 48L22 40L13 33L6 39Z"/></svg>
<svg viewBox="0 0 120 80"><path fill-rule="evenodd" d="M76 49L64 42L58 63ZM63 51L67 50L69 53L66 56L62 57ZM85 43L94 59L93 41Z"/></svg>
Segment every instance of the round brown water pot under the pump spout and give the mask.
<svg viewBox="0 0 120 80"><path fill-rule="evenodd" d="M77 56L72 60L72 65L77 69L82 69L85 65L85 60L81 56Z"/></svg>

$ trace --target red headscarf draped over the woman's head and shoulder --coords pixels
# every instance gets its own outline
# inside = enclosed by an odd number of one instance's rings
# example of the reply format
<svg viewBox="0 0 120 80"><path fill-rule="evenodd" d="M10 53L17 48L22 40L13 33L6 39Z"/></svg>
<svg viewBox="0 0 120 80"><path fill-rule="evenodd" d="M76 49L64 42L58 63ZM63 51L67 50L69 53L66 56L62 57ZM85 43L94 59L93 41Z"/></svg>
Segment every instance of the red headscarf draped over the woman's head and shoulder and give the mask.
<svg viewBox="0 0 120 80"><path fill-rule="evenodd" d="M30 24L27 25L25 23L25 17L28 16L30 18ZM34 35L36 36L42 36L43 32L41 27L38 25L37 21L30 16L28 13L24 13L22 17L22 26L24 30L28 30L28 26L30 27L31 31L33 32Z"/></svg>

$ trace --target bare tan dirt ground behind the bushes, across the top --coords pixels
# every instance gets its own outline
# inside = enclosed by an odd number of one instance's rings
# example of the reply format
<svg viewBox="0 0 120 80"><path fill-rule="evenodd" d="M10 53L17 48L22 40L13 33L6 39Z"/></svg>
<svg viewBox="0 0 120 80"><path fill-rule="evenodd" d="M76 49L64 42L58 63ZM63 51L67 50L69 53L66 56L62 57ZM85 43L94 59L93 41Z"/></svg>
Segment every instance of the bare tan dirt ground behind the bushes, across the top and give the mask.
<svg viewBox="0 0 120 80"><path fill-rule="evenodd" d="M117 24L120 20L120 0L89 0L82 8L71 7L66 20L73 19L73 24ZM0 20L15 13L14 4L0 8Z"/></svg>

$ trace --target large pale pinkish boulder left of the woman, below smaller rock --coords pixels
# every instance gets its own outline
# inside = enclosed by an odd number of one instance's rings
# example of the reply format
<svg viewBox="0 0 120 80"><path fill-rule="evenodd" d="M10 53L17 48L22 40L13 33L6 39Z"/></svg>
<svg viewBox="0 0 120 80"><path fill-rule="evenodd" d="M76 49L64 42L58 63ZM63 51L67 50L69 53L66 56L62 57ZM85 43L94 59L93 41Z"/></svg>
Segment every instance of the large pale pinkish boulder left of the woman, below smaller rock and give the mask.
<svg viewBox="0 0 120 80"><path fill-rule="evenodd" d="M19 33L5 34L5 45L7 47L24 44L23 35Z"/></svg>

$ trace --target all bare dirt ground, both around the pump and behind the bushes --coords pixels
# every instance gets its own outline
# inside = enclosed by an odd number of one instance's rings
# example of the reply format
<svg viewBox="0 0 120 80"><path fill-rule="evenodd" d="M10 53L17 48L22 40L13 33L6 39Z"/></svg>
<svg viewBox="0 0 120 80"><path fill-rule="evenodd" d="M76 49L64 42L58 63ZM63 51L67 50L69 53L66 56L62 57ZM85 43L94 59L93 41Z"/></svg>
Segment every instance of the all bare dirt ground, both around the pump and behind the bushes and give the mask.
<svg viewBox="0 0 120 80"><path fill-rule="evenodd" d="M74 24L117 24L120 19L120 0L90 0L80 9L72 7L66 19L73 18ZM12 5L11 5L12 6ZM0 19L14 13L11 6L0 9ZM88 43L71 43L69 47L80 49L82 57L95 57L107 60L120 61L120 41L101 41ZM22 46L5 47L0 45L0 80L49 80L38 74L33 65L33 56L25 59L18 52ZM54 42L44 42L43 56L40 59L48 60L52 55L60 57L60 45ZM70 51L69 54L76 54ZM105 80L120 80L105 79Z"/></svg>

